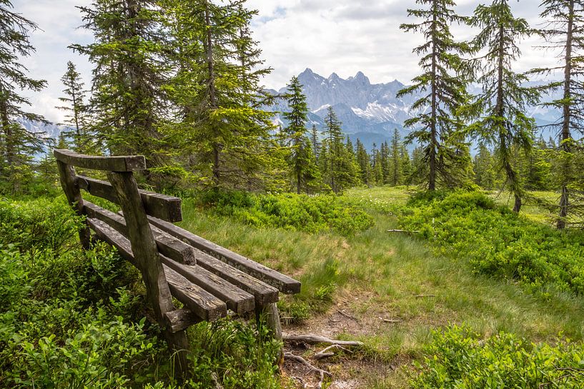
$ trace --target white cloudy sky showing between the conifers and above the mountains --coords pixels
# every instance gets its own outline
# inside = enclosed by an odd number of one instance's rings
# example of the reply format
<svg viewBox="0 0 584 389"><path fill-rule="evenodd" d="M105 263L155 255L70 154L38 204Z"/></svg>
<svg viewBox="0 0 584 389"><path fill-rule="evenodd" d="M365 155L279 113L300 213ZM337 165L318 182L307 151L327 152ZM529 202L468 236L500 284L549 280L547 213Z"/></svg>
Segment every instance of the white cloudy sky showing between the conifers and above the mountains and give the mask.
<svg viewBox="0 0 584 389"><path fill-rule="evenodd" d="M186 0L185 0L186 1ZM457 12L470 15L480 2L459 0ZM31 75L46 79L49 86L39 94L28 94L35 112L51 121L62 120L54 108L61 96L61 76L71 60L91 79L91 66L81 56L67 49L71 43L89 43L92 36L80 29L81 14L75 6L86 6L90 0L13 0L15 11L39 24L31 40L36 54L23 59ZM512 0L516 16L540 24L539 0ZM274 69L264 79L265 86L279 89L295 74L310 67L322 76L336 72L347 78L363 71L373 83L398 79L407 83L418 73L417 57L412 47L420 36L406 34L399 26L407 21L407 8L415 8L415 0L248 0L257 9L252 30L263 50L266 65ZM475 31L468 27L453 29L458 39L468 39ZM538 51L535 39L524 41L523 58L518 70L543 64L554 64L555 54Z"/></svg>

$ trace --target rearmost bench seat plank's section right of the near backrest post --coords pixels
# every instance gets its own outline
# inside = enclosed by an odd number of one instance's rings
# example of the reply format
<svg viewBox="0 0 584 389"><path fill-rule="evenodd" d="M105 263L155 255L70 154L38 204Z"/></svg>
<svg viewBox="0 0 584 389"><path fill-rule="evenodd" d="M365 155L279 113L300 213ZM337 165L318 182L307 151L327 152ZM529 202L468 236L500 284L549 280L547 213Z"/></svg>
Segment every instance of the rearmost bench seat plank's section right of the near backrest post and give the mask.
<svg viewBox="0 0 584 389"><path fill-rule="evenodd" d="M172 295L199 318L214 321L227 316L227 305L222 300L189 282L171 268L165 268L165 273Z"/></svg>

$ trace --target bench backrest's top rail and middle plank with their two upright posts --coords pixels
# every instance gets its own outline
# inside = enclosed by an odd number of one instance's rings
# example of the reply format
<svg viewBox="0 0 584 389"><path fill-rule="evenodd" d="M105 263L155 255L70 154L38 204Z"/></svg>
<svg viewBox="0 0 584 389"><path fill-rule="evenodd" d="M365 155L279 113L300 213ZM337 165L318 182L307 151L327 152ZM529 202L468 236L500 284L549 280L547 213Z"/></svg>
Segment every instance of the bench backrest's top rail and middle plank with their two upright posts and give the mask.
<svg viewBox="0 0 584 389"><path fill-rule="evenodd" d="M142 273L142 280L156 320L164 324L165 313L175 310L171 293L164 276L162 262L154 240L148 216L164 221L182 220L180 198L142 191L138 188L134 171L146 169L144 156L85 156L69 150L55 150L61 187L67 200L81 215L94 212L91 203L84 204L81 189L94 196L117 203L124 215L125 228L134 265ZM75 167L107 172L109 182L85 176L77 176ZM79 232L84 248L89 248L91 231L89 224Z"/></svg>

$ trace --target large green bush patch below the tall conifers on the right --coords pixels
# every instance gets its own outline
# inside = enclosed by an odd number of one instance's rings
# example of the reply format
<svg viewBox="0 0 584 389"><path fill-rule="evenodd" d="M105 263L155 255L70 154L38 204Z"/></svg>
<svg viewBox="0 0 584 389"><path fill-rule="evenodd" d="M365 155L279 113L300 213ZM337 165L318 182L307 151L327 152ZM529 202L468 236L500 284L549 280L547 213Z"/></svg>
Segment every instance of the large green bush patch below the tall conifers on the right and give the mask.
<svg viewBox="0 0 584 389"><path fill-rule="evenodd" d="M476 273L584 293L584 240L516 215L480 192L415 196L400 223L437 253L470 261Z"/></svg>

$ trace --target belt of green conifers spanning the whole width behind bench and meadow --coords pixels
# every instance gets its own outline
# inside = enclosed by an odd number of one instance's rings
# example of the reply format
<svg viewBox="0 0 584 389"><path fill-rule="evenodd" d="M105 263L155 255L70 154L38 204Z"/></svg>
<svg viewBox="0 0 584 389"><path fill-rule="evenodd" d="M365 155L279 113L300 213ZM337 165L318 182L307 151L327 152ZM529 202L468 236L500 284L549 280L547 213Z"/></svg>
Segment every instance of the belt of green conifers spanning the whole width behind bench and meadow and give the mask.
<svg viewBox="0 0 584 389"><path fill-rule="evenodd" d="M252 39L256 11L246 0L94 0L79 7L94 42L72 44L94 69L84 86L74 64L66 66L61 108L70 131L59 147L81 153L143 154L142 180L158 190L239 188L297 193L360 185L422 185L428 190L479 185L513 193L520 211L528 189L560 193L558 228L580 206L582 162L584 0L543 0L540 29L513 15L508 0L479 5L471 16L455 13L453 0L418 0L407 32L424 41L414 49L421 73L397 96L416 94L410 134L366 150L344 135L329 108L322 133L308 121L302 86L292 79L284 96L269 96L264 66ZM525 5L527 6L527 5ZM27 131L19 92L40 91L44 80L27 76L21 57L34 53L34 22L0 0L0 185L19 191L39 163L46 139ZM459 41L452 25L468 25L474 39ZM556 49L558 66L513 71L520 39L537 34ZM534 75L547 84L531 86ZM470 93L470 85L480 93ZM542 94L560 97L542 103ZM274 98L285 98L285 126L274 125ZM560 111L542 141L528 106ZM413 153L405 145L414 144ZM471 157L471 144L478 144ZM49 161L50 162L50 161ZM46 169L44 165L44 168ZM5 189L9 188L9 189Z"/></svg>

